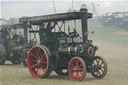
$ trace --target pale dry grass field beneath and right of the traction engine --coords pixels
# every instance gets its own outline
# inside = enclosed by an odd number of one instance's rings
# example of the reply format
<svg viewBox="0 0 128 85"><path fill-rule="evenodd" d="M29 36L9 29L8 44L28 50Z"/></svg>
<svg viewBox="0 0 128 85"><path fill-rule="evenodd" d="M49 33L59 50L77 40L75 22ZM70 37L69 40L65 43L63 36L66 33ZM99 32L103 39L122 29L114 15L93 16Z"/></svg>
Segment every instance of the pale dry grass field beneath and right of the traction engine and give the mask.
<svg viewBox="0 0 128 85"><path fill-rule="evenodd" d="M92 24L92 23L91 23ZM108 73L98 80L87 74L80 82L69 77L58 76L55 72L46 79L33 78L27 68L21 65L0 66L0 85L127 85L128 84L128 31L107 28L99 23L89 25L89 38L99 47L96 55L103 56L108 63Z"/></svg>

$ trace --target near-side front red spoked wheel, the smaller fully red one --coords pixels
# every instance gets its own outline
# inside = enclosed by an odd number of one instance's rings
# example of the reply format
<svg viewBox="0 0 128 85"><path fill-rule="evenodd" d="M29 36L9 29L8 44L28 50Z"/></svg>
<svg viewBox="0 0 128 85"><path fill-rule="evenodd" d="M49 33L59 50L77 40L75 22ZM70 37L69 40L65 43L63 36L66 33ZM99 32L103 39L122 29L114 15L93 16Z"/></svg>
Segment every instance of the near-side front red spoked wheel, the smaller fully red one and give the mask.
<svg viewBox="0 0 128 85"><path fill-rule="evenodd" d="M74 57L68 65L68 73L72 80L83 80L86 75L86 64L80 57Z"/></svg>

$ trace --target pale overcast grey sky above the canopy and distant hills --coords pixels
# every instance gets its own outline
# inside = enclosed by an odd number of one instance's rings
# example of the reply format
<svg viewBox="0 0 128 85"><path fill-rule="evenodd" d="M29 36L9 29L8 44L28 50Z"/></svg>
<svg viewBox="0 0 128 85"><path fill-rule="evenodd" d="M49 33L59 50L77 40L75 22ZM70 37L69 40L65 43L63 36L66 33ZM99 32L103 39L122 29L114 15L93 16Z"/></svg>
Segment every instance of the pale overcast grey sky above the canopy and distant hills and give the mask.
<svg viewBox="0 0 128 85"><path fill-rule="evenodd" d="M72 0L54 0L57 13L72 8ZM89 12L128 11L128 0L73 0L73 9L79 10L81 4L87 4ZM95 7L95 9L94 9ZM0 18L38 16L54 14L53 0L0 0Z"/></svg>

